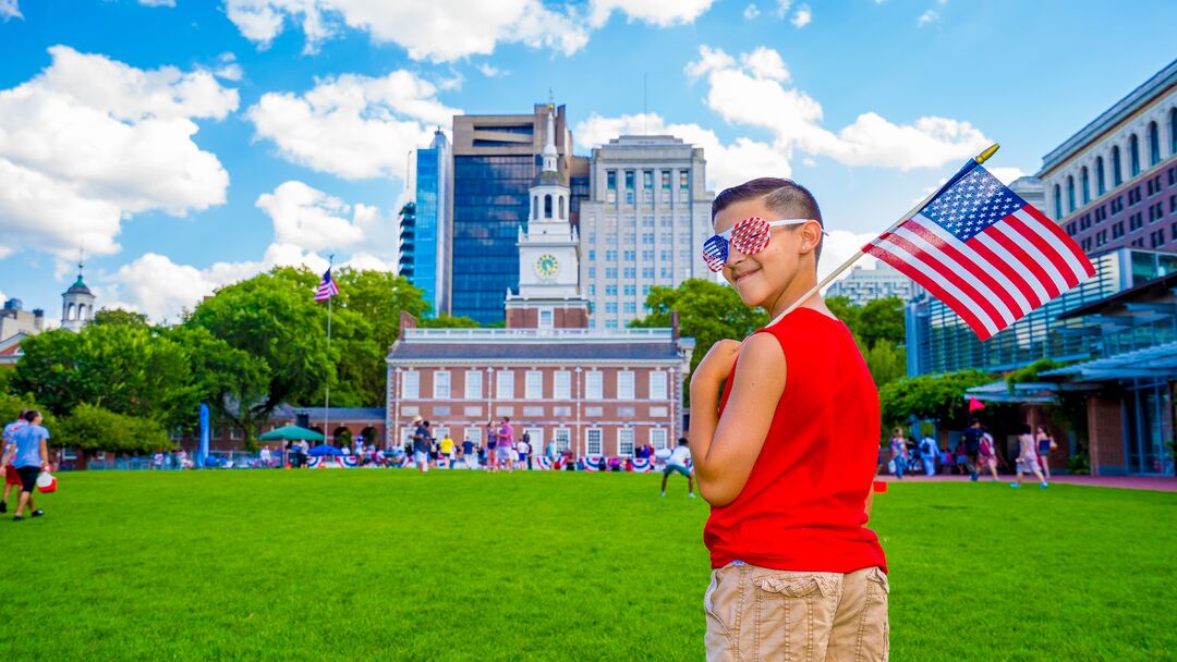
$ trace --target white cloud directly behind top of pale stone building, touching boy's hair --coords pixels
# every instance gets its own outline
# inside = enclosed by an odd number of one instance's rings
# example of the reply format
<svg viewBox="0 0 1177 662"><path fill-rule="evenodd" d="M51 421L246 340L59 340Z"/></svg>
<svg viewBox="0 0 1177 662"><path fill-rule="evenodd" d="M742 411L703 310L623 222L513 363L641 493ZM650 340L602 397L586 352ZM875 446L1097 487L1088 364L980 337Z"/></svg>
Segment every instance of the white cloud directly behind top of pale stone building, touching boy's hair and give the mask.
<svg viewBox="0 0 1177 662"><path fill-rule="evenodd" d="M724 143L711 129L699 125L669 125L658 114L621 115L603 118L590 115L573 129L577 142L585 148L609 142L626 134L670 134L703 147L707 159L707 187L718 189L758 176L782 176L791 174L789 154L777 146L738 138Z"/></svg>

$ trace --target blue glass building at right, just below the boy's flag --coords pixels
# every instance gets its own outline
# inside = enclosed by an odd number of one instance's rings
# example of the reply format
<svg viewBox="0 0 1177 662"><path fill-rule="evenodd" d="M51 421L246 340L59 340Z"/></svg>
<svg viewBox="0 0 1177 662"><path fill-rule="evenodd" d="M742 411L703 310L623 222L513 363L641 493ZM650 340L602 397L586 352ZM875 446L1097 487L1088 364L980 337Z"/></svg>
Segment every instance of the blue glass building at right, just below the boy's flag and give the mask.
<svg viewBox="0 0 1177 662"><path fill-rule="evenodd" d="M1064 313L1177 272L1177 254L1118 248L1091 261L1096 275L1033 310L985 342L946 305L920 292L906 308L907 375L978 368L1015 370L1039 360L1099 355L1100 335Z"/></svg>

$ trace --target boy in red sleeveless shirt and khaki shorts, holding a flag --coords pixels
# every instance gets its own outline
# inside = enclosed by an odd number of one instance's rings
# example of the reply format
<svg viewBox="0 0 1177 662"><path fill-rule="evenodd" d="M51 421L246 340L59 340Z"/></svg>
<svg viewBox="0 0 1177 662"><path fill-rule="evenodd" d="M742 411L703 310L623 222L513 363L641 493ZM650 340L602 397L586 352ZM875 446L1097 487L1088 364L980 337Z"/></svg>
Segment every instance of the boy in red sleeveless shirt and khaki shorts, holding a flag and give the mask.
<svg viewBox="0 0 1177 662"><path fill-rule="evenodd" d="M886 660L886 561L864 526L878 392L850 330L809 294L822 212L784 179L730 188L711 209L720 234L704 259L773 322L717 342L691 377L690 448L711 503L707 658Z"/></svg>

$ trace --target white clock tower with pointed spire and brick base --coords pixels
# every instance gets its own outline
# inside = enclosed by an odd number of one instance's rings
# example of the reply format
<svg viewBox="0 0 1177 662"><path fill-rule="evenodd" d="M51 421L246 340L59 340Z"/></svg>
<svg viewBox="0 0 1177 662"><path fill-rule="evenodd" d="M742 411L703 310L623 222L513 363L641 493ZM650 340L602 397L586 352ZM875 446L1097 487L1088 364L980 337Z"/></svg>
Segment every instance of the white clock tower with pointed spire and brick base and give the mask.
<svg viewBox="0 0 1177 662"><path fill-rule="evenodd" d="M587 328L580 294L577 230L568 222L568 187L560 181L556 106L547 106L544 169L532 182L527 229L519 228L519 293L506 296L508 328ZM565 138L566 140L566 138Z"/></svg>

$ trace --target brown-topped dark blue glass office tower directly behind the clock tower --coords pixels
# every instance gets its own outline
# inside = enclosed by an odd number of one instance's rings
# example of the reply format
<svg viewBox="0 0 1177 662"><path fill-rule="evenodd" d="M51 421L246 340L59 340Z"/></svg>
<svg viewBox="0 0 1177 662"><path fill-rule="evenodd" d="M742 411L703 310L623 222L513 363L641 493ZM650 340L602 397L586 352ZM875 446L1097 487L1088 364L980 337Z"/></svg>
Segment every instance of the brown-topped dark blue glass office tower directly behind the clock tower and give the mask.
<svg viewBox="0 0 1177 662"><path fill-rule="evenodd" d="M519 228L541 167L547 115L554 112L557 170L568 181L572 134L565 108L537 103L530 115L457 115L450 245L451 310L481 323L505 321L503 301L519 287ZM572 195L576 196L576 187ZM572 201L570 200L570 203Z"/></svg>

